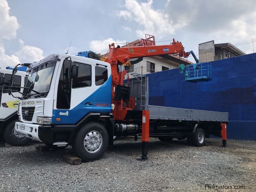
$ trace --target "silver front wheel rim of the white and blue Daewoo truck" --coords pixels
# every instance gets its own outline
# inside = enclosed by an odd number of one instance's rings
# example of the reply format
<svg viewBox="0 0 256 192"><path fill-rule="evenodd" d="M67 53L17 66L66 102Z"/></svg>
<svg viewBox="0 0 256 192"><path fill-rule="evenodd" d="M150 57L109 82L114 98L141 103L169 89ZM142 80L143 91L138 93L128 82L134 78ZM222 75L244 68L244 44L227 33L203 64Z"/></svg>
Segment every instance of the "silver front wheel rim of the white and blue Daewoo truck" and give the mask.
<svg viewBox="0 0 256 192"><path fill-rule="evenodd" d="M102 146L102 136L98 131L90 131L84 137L84 148L89 153L96 153Z"/></svg>

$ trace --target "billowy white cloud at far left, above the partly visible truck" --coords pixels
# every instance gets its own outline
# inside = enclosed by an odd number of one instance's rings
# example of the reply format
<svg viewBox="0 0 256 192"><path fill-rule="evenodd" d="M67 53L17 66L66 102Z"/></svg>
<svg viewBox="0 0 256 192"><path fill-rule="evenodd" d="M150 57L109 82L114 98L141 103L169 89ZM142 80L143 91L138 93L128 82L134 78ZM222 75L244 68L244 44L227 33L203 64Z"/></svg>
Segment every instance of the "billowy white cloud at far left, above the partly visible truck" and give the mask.
<svg viewBox="0 0 256 192"><path fill-rule="evenodd" d="M41 60L43 56L43 50L25 45L24 42L19 39L20 50L15 54L7 55L5 53L3 40L15 39L17 30L20 25L15 16L10 16L10 7L6 0L0 0L0 67L14 66L20 62L33 62Z"/></svg>

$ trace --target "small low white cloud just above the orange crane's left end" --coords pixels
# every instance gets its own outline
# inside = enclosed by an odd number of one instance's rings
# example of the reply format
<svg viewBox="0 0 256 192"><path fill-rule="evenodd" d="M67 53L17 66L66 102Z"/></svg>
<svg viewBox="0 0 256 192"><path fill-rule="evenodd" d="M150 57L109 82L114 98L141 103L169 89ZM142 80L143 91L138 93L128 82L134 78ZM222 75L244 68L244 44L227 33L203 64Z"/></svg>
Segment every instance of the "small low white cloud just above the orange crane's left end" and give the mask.
<svg viewBox="0 0 256 192"><path fill-rule="evenodd" d="M126 41L124 40L114 40L113 38L108 38L108 39L103 39L103 40L92 40L90 42L90 49L93 52L97 52L100 54L105 54L108 51L108 45L115 43L115 46L118 45L118 43L120 43L120 46L122 46L124 43L126 43ZM116 44L117 43L117 44Z"/></svg>

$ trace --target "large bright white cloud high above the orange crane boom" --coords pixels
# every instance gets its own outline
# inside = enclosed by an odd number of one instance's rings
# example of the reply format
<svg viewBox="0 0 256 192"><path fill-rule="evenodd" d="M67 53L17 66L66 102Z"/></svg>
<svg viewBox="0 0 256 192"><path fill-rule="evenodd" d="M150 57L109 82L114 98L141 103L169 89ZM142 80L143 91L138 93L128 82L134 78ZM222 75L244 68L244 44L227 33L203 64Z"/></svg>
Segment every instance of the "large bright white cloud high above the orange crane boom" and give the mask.
<svg viewBox="0 0 256 192"><path fill-rule="evenodd" d="M138 37L144 37L150 34L161 38L165 35L174 34L174 32L186 25L186 20L174 23L167 12L156 10L152 7L152 0L145 3L138 3L136 0L126 0L124 7L117 13L118 16L125 20L134 20L138 24L136 34ZM131 16L133 15L133 16Z"/></svg>

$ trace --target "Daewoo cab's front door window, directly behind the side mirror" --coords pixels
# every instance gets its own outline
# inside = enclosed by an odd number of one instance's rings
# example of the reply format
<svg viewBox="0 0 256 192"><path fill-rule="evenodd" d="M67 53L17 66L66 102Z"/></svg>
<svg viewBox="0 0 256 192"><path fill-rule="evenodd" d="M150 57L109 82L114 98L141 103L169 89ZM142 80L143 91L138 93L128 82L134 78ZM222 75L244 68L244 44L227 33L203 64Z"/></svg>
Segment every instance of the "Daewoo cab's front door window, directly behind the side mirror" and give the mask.
<svg viewBox="0 0 256 192"><path fill-rule="evenodd" d="M72 88L90 87L92 85L92 66L73 62L78 65L78 76L72 79Z"/></svg>

